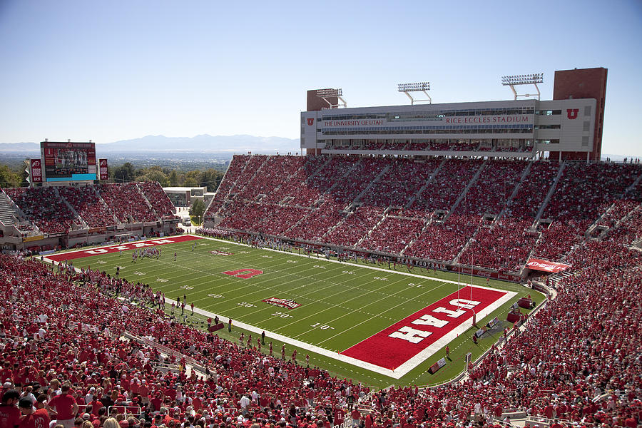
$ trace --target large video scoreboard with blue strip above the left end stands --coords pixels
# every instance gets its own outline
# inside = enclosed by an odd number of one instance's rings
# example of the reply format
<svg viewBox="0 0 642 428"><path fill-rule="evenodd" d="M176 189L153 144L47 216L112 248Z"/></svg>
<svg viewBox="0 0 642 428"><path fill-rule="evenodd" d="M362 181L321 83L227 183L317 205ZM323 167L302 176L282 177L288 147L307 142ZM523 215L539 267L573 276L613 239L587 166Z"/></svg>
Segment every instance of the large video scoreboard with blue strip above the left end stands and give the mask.
<svg viewBox="0 0 642 428"><path fill-rule="evenodd" d="M44 180L96 180L96 143L40 143Z"/></svg>

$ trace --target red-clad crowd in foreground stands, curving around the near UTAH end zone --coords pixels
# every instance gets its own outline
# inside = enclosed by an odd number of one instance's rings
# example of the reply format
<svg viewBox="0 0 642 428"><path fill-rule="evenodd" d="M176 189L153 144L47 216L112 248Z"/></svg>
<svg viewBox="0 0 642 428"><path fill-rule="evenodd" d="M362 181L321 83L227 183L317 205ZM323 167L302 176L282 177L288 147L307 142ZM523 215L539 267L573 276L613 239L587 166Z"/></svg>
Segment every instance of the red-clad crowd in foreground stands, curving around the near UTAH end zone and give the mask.
<svg viewBox="0 0 642 428"><path fill-rule="evenodd" d="M343 419L353 399L372 411L353 411L347 424L355 419L372 428L499 427L506 412L543 417L553 427L638 427L642 255L592 240L567 260L579 268L558 282L556 297L523 331L493 347L467 379L368 394L323 370L265 355L267 346L261 353L258 342L239 346L182 325L158 310L164 296L146 285L0 255L1 394L13 397L8 391L17 388L31 397L29 391L41 403L36 407L55 409L57 422L69 419L71 427L88 421L110 428L107 409L117 414L130 406L140 411L128 427L327 428ZM179 357L122 340L125 332ZM188 375L188 359L209 375ZM163 362L180 369L163 373ZM66 397L60 391L66 383L68 401L78 404L73 412L56 399Z"/></svg>

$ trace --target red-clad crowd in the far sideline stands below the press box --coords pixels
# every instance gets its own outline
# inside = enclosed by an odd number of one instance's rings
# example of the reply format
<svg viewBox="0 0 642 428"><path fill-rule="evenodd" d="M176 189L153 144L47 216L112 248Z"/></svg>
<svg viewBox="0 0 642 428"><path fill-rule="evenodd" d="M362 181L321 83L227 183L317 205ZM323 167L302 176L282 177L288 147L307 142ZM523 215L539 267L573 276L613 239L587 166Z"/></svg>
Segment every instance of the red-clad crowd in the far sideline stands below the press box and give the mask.
<svg viewBox="0 0 642 428"><path fill-rule="evenodd" d="M629 189L619 201L640 174L613 163L566 163L560 174L541 161L235 156L208 215L236 230L520 270L533 249L564 258L613 203L606 236L635 240L642 197Z"/></svg>

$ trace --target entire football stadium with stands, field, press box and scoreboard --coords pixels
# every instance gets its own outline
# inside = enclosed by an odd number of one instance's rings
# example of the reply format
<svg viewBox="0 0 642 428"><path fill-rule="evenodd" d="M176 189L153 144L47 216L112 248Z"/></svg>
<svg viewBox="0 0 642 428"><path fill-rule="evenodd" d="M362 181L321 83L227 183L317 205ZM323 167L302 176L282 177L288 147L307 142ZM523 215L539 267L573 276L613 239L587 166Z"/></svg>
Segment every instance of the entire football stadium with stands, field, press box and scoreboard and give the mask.
<svg viewBox="0 0 642 428"><path fill-rule="evenodd" d="M642 167L601 161L606 77L556 71L549 101L541 74L504 76L509 101L307 91L300 153L235 154L189 232L160 183L43 141L0 193L3 405L61 387L46 408L83 428L636 427Z"/></svg>

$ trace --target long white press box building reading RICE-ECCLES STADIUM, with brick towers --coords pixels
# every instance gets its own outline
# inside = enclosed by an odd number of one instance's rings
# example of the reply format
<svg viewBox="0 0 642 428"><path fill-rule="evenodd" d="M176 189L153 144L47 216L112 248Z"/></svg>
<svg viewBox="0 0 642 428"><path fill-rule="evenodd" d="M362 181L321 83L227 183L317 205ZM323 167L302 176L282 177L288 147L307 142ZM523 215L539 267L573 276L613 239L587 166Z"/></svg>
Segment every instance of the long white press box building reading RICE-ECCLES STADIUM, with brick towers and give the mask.
<svg viewBox="0 0 642 428"><path fill-rule="evenodd" d="M514 91L511 101L336 108L343 101L341 90L308 91L301 148L308 155L542 158L547 153L551 159L598 161L606 72L556 71L550 101L517 99Z"/></svg>

